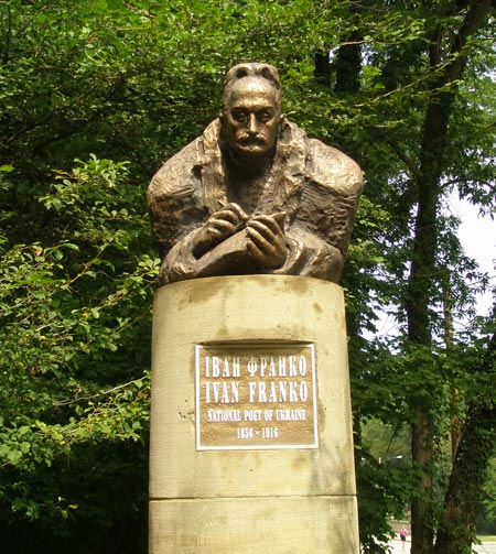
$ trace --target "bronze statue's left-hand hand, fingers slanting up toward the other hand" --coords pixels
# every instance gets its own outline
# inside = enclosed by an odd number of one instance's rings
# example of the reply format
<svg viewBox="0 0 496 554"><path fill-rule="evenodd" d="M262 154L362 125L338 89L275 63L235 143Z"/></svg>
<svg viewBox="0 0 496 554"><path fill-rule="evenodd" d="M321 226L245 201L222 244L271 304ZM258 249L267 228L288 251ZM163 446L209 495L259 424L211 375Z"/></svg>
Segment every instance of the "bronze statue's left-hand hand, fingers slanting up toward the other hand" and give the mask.
<svg viewBox="0 0 496 554"><path fill-rule="evenodd" d="M239 230L247 220L248 216L235 203L214 211L193 239L193 256L201 258Z"/></svg>

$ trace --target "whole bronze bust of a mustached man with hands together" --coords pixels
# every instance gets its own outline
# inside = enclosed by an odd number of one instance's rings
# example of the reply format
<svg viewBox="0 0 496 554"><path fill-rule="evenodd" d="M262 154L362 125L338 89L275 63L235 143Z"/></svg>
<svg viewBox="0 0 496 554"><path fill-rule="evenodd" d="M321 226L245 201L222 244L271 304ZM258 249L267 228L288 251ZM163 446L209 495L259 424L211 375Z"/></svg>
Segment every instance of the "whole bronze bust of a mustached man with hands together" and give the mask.
<svg viewBox="0 0 496 554"><path fill-rule="evenodd" d="M362 192L358 165L281 116L279 75L226 75L223 111L148 191L159 283L272 273L338 282Z"/></svg>

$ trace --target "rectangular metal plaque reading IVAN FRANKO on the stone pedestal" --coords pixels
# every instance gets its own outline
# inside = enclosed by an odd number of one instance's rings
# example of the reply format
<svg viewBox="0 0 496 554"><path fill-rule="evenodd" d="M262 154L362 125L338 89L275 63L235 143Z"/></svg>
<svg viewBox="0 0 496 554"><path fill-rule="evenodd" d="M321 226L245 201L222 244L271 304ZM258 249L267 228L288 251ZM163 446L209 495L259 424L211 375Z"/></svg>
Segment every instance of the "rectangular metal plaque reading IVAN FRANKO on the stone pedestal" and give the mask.
<svg viewBox="0 0 496 554"><path fill-rule="evenodd" d="M313 344L196 345L196 449L316 448Z"/></svg>

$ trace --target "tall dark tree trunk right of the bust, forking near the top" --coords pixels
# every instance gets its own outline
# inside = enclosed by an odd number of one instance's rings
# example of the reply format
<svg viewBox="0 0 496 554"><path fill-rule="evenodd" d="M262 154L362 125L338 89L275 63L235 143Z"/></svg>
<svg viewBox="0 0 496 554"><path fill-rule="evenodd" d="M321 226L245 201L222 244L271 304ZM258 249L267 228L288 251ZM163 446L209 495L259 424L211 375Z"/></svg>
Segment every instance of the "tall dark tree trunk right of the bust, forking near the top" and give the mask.
<svg viewBox="0 0 496 554"><path fill-rule="evenodd" d="M462 7L455 7L456 13ZM451 61L442 66L442 44L444 30L439 28L431 36L429 61L433 75L438 75L435 90L427 107L423 138L420 152L420 172L418 181L418 211L414 227L412 264L409 275L407 318L409 340L416 345L429 347L432 344L430 327L430 292L434 286L436 252L436 215L441 192L442 160L448 134L454 94L448 86L454 86L462 76L465 66L463 48L467 39L482 26L490 8L490 0L473 0L464 3L464 20L453 37ZM442 67L442 68L441 68ZM435 399L432 398L432 402ZM412 425L412 461L420 469L418 481L419 497L413 499L412 554L432 554L433 514L431 513L430 491L432 478L432 445L434 427L432 422L433 405L413 399L416 420Z"/></svg>

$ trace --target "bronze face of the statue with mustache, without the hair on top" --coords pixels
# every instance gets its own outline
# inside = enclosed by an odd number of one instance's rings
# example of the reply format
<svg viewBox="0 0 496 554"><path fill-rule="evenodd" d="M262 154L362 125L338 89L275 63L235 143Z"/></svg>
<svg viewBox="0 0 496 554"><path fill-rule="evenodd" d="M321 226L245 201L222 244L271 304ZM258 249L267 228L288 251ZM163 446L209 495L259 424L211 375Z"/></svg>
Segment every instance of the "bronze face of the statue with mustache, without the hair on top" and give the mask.
<svg viewBox="0 0 496 554"><path fill-rule="evenodd" d="M266 156L279 130L276 88L265 78L245 77L233 84L224 104L224 134L235 157Z"/></svg>

